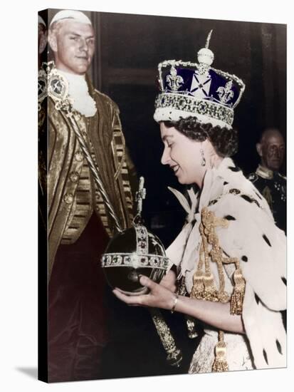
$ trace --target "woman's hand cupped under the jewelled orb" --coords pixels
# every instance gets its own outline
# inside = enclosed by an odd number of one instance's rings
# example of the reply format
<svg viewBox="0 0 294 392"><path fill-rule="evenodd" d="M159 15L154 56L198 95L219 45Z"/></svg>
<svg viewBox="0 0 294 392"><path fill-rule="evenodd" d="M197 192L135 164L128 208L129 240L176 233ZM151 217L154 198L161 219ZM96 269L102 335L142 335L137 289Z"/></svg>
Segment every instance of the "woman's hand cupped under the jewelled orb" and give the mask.
<svg viewBox="0 0 294 392"><path fill-rule="evenodd" d="M149 294L127 296L120 289L114 289L113 294L128 305L150 306L167 310L172 309L172 306L174 306L174 293L171 290L166 289L161 284L157 284L145 276L140 277L140 284L150 290Z"/></svg>

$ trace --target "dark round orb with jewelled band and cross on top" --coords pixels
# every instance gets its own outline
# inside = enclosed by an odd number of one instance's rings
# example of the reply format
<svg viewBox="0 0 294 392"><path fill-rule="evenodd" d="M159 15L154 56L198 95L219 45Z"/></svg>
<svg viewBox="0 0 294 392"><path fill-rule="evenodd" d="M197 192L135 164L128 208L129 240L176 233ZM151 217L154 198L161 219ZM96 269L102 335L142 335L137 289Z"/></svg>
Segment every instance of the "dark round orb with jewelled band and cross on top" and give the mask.
<svg viewBox="0 0 294 392"><path fill-rule="evenodd" d="M140 284L140 274L160 282L169 264L162 242L143 225L141 213L145 197L144 178L141 177L133 227L116 234L101 259L110 286L119 287L128 294L145 294L147 289Z"/></svg>

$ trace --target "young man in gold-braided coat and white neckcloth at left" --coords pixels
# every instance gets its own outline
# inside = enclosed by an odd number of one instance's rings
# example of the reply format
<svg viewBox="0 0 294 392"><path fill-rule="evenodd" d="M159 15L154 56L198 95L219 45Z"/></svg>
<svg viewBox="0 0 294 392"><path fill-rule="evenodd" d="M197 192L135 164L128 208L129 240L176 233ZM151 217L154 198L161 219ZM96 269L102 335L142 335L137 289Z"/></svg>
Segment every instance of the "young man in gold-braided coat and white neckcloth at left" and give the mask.
<svg viewBox="0 0 294 392"><path fill-rule="evenodd" d="M117 105L95 90L86 71L95 33L80 11L59 11L45 65L53 92L68 88L73 118L123 228L132 222L132 194ZM58 82L61 81L61 83ZM48 82L49 83L49 82ZM100 189L73 132L73 123L48 96L48 380L100 378L107 341L100 255L115 232ZM72 120L71 119L71 120Z"/></svg>

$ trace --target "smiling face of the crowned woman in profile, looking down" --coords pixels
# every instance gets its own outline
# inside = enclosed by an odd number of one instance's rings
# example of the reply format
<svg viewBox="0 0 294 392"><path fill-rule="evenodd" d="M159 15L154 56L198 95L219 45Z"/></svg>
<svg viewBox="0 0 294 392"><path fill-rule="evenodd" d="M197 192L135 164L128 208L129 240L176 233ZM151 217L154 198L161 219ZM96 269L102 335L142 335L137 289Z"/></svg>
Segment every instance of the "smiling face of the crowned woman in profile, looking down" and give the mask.
<svg viewBox="0 0 294 392"><path fill-rule="evenodd" d="M176 128L167 128L164 123L160 123L160 132L164 143L162 165L169 165L181 184L196 183L202 187L207 167L201 166L200 150L205 150L210 142L191 140Z"/></svg>

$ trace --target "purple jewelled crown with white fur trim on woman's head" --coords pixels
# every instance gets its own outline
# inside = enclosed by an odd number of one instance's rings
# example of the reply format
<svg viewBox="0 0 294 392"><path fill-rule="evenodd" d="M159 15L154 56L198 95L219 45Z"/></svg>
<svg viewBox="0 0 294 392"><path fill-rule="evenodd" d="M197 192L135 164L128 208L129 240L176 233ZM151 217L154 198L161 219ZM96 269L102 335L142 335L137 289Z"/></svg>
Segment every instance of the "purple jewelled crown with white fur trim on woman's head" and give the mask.
<svg viewBox="0 0 294 392"><path fill-rule="evenodd" d="M233 110L241 100L245 84L235 75L211 68L214 53L205 48L197 53L198 63L167 60L159 63L161 93L155 101L154 120L178 121L195 116L199 123L231 128Z"/></svg>

